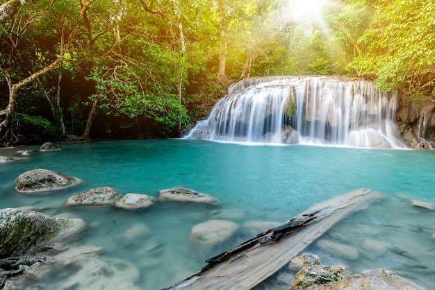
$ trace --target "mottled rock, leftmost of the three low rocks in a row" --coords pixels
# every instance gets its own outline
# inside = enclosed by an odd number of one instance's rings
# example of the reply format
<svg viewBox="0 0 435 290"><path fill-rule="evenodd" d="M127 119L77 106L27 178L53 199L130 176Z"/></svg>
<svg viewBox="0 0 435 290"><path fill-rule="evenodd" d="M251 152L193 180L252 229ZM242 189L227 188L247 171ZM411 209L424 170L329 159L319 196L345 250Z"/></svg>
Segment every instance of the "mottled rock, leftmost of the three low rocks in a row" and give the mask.
<svg viewBox="0 0 435 290"><path fill-rule="evenodd" d="M113 205L122 195L113 187L97 187L68 198L67 205Z"/></svg>

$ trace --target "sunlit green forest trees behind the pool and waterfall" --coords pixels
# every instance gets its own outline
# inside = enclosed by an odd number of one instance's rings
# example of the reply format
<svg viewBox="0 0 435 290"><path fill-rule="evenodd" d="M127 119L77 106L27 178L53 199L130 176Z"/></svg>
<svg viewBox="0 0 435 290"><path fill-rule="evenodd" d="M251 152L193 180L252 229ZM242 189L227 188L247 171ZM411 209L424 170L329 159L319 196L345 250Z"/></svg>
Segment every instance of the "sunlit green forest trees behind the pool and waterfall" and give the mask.
<svg viewBox="0 0 435 290"><path fill-rule="evenodd" d="M0 0L0 144L179 136L253 76L432 103L434 40L432 0Z"/></svg>

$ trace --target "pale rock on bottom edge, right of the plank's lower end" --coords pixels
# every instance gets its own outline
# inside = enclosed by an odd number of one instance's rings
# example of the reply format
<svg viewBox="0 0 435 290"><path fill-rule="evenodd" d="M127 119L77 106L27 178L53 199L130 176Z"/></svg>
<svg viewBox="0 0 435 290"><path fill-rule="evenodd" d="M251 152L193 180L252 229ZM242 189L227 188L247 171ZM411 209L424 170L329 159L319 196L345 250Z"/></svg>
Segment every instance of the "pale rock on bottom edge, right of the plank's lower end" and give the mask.
<svg viewBox="0 0 435 290"><path fill-rule="evenodd" d="M422 290L418 285L410 282L394 272L376 268L372 271L364 271L360 274L351 275L337 282L329 282L312 290Z"/></svg>

